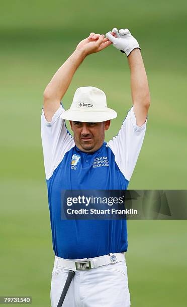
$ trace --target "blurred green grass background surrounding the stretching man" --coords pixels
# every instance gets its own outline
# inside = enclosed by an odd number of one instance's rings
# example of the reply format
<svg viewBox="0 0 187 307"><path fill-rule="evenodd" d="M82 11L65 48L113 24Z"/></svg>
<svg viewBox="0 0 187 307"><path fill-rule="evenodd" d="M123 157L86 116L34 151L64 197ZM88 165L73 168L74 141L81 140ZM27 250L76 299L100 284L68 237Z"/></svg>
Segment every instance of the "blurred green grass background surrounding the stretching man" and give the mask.
<svg viewBox="0 0 187 307"><path fill-rule="evenodd" d="M53 251L40 139L43 92L90 32L129 28L147 70L151 107L130 189L186 189L187 3L1 1L1 285L0 295L32 295L50 306ZM118 111L131 107L126 56L113 46L90 55L63 104L79 86L96 86ZM176 204L177 206L177 204ZM186 306L186 221L128 221L132 307Z"/></svg>

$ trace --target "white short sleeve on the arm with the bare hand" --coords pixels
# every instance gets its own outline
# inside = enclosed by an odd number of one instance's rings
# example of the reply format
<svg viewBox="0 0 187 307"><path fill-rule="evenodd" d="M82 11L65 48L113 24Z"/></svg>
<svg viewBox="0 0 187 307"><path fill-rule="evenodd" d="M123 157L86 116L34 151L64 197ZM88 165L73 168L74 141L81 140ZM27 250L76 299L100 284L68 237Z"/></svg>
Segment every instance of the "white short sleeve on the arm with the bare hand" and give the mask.
<svg viewBox="0 0 187 307"><path fill-rule="evenodd" d="M64 108L60 105L48 122L42 109L41 137L46 179L52 176L66 152L74 146L74 139L68 132L64 119L60 118L62 112Z"/></svg>

